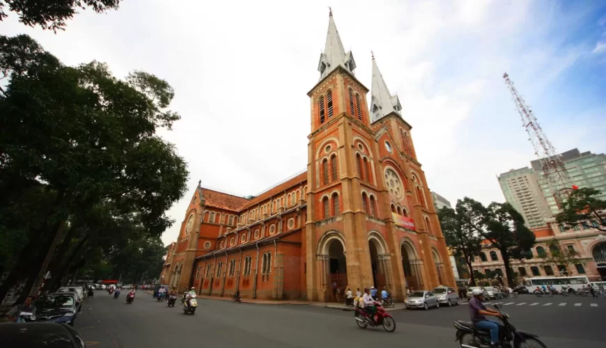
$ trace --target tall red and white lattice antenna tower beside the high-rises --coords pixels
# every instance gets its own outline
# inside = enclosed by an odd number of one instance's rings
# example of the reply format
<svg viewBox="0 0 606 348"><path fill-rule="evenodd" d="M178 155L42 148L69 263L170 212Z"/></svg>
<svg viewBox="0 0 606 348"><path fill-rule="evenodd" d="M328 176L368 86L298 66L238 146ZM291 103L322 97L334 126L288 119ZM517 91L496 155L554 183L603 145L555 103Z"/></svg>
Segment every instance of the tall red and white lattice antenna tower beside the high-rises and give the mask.
<svg viewBox="0 0 606 348"><path fill-rule="evenodd" d="M534 117L532 110L513 86L513 81L509 79L509 75L505 73L503 74L503 78L513 97L515 109L518 110L518 113L522 117L522 127L526 129L529 137L528 140L532 143L534 153L541 163L545 181L549 185L549 189L558 207L561 207L561 203L568 198L568 194L570 194L568 188L572 185L572 180L570 180L570 175L566 171L564 161L562 161L561 156L557 154L552 143L547 139L545 133L543 133L543 129L538 125L538 121Z"/></svg>

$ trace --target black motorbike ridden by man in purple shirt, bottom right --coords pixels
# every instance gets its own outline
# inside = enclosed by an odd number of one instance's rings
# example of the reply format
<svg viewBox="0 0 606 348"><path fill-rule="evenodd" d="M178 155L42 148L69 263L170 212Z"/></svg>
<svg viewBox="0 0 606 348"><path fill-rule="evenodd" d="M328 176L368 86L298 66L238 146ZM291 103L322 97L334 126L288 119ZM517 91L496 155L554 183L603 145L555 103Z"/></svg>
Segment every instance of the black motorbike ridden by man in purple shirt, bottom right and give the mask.
<svg viewBox="0 0 606 348"><path fill-rule="evenodd" d="M502 315L500 319L503 325L499 325L499 337L502 340L503 347L520 348L523 343L524 347L547 348L538 339L538 335L515 329L515 326L509 322L509 315L501 311L502 305L496 303L495 308ZM455 320L454 327L457 329L455 340L459 342L461 348L490 347L490 331L478 329L472 322L464 322L463 320Z"/></svg>

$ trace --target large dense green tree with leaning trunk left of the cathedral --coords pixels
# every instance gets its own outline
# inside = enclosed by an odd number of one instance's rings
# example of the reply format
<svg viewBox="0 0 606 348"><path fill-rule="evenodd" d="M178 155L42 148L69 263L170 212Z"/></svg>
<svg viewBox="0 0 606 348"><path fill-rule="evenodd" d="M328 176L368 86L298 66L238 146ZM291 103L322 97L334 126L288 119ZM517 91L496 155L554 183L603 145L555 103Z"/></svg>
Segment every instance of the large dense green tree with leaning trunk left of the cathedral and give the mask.
<svg viewBox="0 0 606 348"><path fill-rule="evenodd" d="M8 77L0 93L0 193L42 185L52 196L15 256L25 269L13 267L0 298L20 276L31 287L57 234L95 205L137 214L150 236L171 226L165 213L185 193L188 172L155 134L179 119L166 81L144 72L123 81L94 61L68 67L26 35L0 36L0 72Z"/></svg>

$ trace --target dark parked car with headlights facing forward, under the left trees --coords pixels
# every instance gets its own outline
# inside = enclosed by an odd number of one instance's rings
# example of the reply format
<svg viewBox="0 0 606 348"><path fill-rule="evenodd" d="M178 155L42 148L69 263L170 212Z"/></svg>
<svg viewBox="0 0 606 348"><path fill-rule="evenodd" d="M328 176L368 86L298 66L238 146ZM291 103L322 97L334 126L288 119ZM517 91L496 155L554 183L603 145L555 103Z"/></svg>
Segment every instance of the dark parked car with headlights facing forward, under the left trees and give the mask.
<svg viewBox="0 0 606 348"><path fill-rule="evenodd" d="M78 316L75 294L63 292L40 296L33 302L36 306L36 322L56 322L74 326Z"/></svg>

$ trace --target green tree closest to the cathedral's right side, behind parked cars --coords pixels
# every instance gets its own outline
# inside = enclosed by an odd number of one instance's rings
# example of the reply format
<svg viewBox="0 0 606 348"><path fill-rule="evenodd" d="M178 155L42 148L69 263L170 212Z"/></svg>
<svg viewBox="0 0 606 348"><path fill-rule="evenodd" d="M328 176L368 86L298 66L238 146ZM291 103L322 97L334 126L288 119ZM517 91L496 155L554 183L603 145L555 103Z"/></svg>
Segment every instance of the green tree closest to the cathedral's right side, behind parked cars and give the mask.
<svg viewBox="0 0 606 348"><path fill-rule="evenodd" d="M477 205L481 203L465 197L457 201L456 209L442 207L437 212L446 245L456 258L465 260L472 283L476 281L472 262L480 255L483 239L475 228L481 224L482 219L482 216L476 213L479 209L474 208Z"/></svg>

